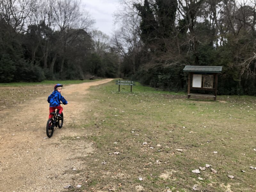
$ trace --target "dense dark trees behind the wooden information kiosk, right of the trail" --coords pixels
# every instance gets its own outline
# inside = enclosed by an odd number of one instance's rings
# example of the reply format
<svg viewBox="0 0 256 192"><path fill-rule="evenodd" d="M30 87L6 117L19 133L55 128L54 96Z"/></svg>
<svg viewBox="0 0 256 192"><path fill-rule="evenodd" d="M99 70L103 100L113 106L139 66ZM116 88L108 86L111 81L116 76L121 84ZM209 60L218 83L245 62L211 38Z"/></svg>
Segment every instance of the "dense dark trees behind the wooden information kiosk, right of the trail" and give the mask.
<svg viewBox="0 0 256 192"><path fill-rule="evenodd" d="M113 42L124 76L185 91L185 65L223 66L218 94L256 95L255 1L123 0L122 7Z"/></svg>

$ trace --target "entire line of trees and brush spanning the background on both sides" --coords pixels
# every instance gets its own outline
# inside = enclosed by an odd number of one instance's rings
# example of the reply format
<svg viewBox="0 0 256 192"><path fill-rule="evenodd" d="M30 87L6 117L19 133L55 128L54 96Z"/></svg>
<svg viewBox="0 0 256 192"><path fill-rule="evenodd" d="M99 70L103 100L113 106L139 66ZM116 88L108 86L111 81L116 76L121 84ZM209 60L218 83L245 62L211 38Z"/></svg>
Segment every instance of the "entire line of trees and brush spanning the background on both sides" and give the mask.
<svg viewBox="0 0 256 192"><path fill-rule="evenodd" d="M119 2L110 39L77 0L0 0L0 83L124 77L185 91L185 65L206 65L223 67L218 94L256 95L254 0Z"/></svg>

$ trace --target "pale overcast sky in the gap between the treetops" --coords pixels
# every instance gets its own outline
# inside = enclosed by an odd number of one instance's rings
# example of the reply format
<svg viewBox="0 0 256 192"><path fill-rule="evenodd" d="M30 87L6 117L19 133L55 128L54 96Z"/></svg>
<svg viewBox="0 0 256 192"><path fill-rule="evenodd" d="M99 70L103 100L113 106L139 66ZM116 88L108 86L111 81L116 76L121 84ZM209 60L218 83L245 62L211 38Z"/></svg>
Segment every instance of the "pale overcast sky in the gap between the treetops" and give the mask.
<svg viewBox="0 0 256 192"><path fill-rule="evenodd" d="M85 9L95 20L95 28L111 36L113 13L117 10L118 0L81 0Z"/></svg>

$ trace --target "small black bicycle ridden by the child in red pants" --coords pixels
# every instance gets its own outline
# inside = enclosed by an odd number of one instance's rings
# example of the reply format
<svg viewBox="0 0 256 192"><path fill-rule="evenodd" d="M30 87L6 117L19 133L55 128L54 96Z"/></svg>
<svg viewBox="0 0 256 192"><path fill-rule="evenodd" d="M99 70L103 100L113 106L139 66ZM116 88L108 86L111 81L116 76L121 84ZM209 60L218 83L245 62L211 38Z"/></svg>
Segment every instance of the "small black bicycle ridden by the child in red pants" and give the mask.
<svg viewBox="0 0 256 192"><path fill-rule="evenodd" d="M60 103L62 104L62 103ZM62 125L63 125L63 121L64 121L64 118L63 118L63 113L61 112L61 117L58 117L59 113L59 109L57 109L55 112L52 112L50 114L53 115L52 118L48 119L47 121L47 124L46 124L46 135L50 138L52 137L52 134L54 132L54 128L55 127L59 127L61 128Z"/></svg>

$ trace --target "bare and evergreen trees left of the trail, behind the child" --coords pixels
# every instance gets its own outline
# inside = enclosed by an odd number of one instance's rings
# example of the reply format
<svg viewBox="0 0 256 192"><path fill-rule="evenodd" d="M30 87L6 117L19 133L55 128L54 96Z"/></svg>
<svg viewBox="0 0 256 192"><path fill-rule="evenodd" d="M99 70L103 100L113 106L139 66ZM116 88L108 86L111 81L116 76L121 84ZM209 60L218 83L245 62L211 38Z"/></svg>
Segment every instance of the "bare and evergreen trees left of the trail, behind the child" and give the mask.
<svg viewBox="0 0 256 192"><path fill-rule="evenodd" d="M119 57L81 7L76 0L0 0L0 83L116 77Z"/></svg>

